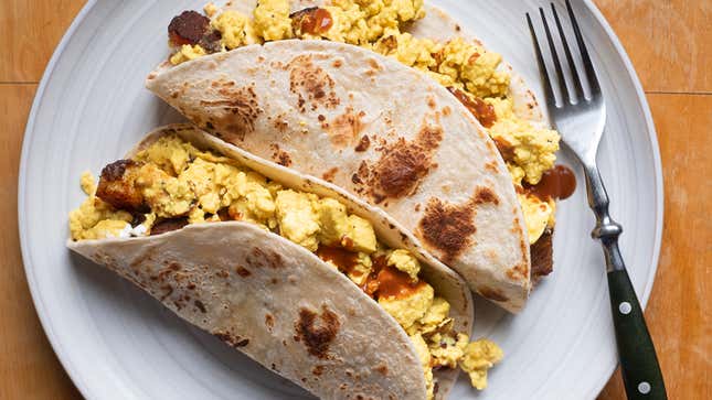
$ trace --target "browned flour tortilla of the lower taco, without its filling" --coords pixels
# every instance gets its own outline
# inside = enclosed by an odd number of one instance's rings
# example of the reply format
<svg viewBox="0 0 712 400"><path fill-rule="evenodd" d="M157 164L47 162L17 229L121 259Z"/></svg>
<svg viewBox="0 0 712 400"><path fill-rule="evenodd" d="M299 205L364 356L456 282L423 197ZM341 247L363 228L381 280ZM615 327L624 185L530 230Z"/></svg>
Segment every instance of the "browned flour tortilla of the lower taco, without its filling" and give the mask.
<svg viewBox="0 0 712 400"><path fill-rule="evenodd" d="M455 331L470 332L466 283L385 213L188 125L159 128L127 158L166 134L233 158L286 187L339 199L369 219L383 242L419 259L425 280L451 305ZM253 224L189 225L151 237L70 240L67 247L320 398L425 399L424 370L397 322L312 252ZM434 374L443 399L458 371Z"/></svg>

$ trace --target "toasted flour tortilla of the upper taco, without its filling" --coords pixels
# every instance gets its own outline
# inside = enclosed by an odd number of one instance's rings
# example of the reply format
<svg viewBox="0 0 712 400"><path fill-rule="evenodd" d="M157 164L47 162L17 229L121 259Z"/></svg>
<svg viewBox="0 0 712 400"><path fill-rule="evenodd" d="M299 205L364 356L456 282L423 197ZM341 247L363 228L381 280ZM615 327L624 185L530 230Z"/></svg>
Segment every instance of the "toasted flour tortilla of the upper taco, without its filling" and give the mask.
<svg viewBox="0 0 712 400"><path fill-rule="evenodd" d="M216 137L378 205L471 289L512 312L524 305L529 239L507 166L421 72L293 40L163 64L147 87Z"/></svg>

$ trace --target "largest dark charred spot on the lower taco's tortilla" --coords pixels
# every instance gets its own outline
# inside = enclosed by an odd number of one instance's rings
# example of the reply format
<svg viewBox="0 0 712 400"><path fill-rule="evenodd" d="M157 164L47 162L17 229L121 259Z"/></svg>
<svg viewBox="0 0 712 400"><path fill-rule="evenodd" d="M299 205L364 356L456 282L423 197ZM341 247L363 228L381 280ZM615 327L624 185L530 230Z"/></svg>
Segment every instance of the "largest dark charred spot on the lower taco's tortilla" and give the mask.
<svg viewBox="0 0 712 400"><path fill-rule="evenodd" d="M326 305L321 315L307 309L299 310L299 320L295 323L297 342L302 342L307 352L317 358L327 358L329 345L337 336L341 323L339 317Z"/></svg>

